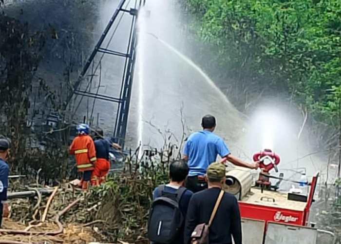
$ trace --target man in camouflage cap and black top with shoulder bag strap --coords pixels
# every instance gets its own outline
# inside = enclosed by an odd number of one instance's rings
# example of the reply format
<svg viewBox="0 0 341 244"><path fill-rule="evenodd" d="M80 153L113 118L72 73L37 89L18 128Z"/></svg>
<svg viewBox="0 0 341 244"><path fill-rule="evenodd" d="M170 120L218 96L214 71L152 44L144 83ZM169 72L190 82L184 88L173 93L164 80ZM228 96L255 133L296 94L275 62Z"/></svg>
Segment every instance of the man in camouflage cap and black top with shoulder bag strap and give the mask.
<svg viewBox="0 0 341 244"><path fill-rule="evenodd" d="M189 201L186 215L184 244L189 244L195 226L208 223L214 205L226 181L226 166L211 163L205 176L208 189L194 193ZM209 228L209 243L242 244L242 224L238 201L230 193L224 192L216 214Z"/></svg>

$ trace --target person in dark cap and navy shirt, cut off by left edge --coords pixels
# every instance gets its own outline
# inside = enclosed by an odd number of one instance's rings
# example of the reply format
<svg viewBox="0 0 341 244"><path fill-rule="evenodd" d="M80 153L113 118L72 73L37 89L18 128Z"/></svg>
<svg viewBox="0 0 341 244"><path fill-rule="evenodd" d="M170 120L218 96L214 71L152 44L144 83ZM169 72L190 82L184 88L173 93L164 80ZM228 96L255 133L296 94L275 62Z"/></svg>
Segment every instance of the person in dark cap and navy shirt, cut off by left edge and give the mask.
<svg viewBox="0 0 341 244"><path fill-rule="evenodd" d="M7 218L9 215L7 203L7 187L9 167L5 162L9 154L9 142L0 138L0 226L2 217Z"/></svg>

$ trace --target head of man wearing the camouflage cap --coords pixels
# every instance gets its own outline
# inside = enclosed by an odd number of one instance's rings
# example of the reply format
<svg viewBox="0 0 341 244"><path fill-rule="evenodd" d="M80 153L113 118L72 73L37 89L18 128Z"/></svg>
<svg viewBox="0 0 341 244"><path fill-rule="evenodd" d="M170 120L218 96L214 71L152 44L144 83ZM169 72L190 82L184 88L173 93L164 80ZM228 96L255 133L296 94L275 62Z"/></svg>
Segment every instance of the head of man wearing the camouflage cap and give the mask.
<svg viewBox="0 0 341 244"><path fill-rule="evenodd" d="M215 162L211 163L206 172L206 181L208 182L208 187L219 186L225 183L226 180L226 166L223 163Z"/></svg>

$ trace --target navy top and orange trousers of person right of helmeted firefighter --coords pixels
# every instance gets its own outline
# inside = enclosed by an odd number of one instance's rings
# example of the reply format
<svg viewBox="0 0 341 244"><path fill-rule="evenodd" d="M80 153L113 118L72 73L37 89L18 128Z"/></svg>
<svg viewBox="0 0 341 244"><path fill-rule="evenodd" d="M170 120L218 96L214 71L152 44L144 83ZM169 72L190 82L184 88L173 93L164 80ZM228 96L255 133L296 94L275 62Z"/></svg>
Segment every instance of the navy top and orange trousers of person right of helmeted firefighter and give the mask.
<svg viewBox="0 0 341 244"><path fill-rule="evenodd" d="M95 140L95 149L97 162L93 171L92 182L100 184L106 182L107 174L110 169L110 143L105 139L97 139Z"/></svg>

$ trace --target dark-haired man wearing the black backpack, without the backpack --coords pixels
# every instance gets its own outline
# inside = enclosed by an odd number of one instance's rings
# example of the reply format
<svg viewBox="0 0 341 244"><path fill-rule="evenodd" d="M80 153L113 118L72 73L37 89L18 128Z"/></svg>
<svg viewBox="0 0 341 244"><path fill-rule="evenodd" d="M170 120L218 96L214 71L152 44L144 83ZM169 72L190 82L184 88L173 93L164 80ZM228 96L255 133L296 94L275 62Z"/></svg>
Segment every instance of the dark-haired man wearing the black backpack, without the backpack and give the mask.
<svg viewBox="0 0 341 244"><path fill-rule="evenodd" d="M165 186L165 192L169 193L176 193L176 191L181 187L185 185L186 177L189 173L189 167L186 162L180 160L175 161L173 163L170 163L170 183L166 184ZM153 199L160 196L160 192L158 192L158 187L155 188L153 193ZM179 209L182 212L183 216L186 216L189 200L192 197L193 192L191 192L189 189L186 189L185 192L182 194L180 200L179 200ZM183 226L180 229L180 234L174 240L173 244L183 244L184 238L184 227L185 223L183 223Z"/></svg>

